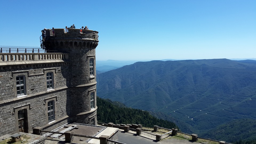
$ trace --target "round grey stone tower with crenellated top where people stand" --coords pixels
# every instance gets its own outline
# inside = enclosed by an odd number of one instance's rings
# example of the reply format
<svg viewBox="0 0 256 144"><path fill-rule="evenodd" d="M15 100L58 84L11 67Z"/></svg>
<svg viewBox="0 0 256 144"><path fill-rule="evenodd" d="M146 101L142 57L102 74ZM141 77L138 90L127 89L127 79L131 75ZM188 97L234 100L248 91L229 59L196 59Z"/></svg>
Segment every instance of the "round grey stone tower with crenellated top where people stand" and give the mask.
<svg viewBox="0 0 256 144"><path fill-rule="evenodd" d="M69 77L66 78L67 113L70 122L96 125L96 57L98 32L93 30L54 29L46 31L45 46L47 51L69 53ZM63 71L62 71L63 73Z"/></svg>

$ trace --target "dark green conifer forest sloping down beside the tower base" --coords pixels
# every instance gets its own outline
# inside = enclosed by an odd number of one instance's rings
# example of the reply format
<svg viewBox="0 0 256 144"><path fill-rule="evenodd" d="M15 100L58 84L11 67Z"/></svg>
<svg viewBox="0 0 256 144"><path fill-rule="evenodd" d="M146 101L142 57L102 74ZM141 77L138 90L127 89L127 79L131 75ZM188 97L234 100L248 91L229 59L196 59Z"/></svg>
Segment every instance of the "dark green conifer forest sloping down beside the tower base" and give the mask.
<svg viewBox="0 0 256 144"><path fill-rule="evenodd" d="M154 125L167 129L177 128L175 123L158 119L149 112L125 107L122 103L112 102L109 99L97 97L97 121L114 124L141 124L143 127L154 127Z"/></svg>

